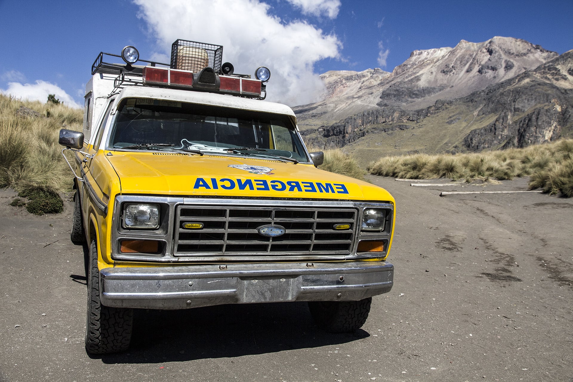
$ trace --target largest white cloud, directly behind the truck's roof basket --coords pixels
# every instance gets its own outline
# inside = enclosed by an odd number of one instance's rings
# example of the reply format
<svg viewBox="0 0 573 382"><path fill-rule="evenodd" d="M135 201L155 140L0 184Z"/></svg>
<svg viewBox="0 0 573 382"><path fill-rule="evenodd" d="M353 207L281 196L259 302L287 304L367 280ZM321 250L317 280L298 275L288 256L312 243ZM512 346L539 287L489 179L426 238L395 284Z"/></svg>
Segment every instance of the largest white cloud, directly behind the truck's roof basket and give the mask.
<svg viewBox="0 0 573 382"><path fill-rule="evenodd" d="M323 58L338 58L342 48L336 36L305 21L283 23L259 0L134 3L140 6L138 17L148 23L162 49L140 52L142 57L170 54L178 38L223 45L223 62L231 62L236 73L254 74L258 66L267 66L271 71L267 100L288 105L319 100L324 84L313 65Z"/></svg>

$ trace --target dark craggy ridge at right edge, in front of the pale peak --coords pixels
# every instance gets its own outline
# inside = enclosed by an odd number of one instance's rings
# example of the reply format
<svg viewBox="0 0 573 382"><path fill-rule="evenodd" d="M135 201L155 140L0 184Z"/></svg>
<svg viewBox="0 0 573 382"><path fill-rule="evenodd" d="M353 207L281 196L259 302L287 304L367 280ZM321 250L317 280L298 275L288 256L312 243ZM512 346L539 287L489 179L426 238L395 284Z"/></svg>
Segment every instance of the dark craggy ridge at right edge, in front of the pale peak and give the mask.
<svg viewBox="0 0 573 382"><path fill-rule="evenodd" d="M483 105L482 114L497 115L465 137L463 146L470 150L525 147L571 136L573 50L464 101Z"/></svg>

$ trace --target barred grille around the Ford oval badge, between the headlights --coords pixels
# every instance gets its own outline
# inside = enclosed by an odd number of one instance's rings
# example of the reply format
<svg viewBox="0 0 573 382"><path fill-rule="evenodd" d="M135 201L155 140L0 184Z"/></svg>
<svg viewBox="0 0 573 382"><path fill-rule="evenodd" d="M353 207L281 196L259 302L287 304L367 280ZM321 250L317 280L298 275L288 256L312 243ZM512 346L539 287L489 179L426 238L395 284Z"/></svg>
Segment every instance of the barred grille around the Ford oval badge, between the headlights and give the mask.
<svg viewBox="0 0 573 382"><path fill-rule="evenodd" d="M356 237L356 208L189 206L176 207L174 255L318 255L350 254ZM186 229L185 223L202 223ZM350 229L335 230L348 224ZM258 228L284 227L279 237Z"/></svg>

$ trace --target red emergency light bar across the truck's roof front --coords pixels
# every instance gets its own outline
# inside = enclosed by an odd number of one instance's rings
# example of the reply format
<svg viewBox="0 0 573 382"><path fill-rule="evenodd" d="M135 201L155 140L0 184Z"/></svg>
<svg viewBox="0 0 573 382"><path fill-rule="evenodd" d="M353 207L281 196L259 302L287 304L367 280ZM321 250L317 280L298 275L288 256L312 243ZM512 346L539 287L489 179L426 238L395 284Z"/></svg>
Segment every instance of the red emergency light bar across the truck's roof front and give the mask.
<svg viewBox="0 0 573 382"><path fill-rule="evenodd" d="M201 88L200 82L193 86L194 75L199 76L200 74L194 74L188 70L146 66L143 68L143 84L152 86L168 86L174 88L195 88L197 90L206 90ZM250 78L234 76L218 77L221 84L219 89L210 88L208 89L209 91L230 94L234 96L256 98L261 97L262 82L260 80L251 80Z"/></svg>

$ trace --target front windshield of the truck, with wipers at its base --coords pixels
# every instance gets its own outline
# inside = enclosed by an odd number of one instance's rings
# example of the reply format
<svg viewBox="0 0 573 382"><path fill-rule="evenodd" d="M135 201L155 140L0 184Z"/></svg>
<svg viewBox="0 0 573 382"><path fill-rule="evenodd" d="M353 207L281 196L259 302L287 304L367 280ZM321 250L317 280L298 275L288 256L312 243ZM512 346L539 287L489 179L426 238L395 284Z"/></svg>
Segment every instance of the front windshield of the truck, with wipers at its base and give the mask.
<svg viewBox="0 0 573 382"><path fill-rule="evenodd" d="M121 101L109 149L162 149L309 162L288 116L154 99Z"/></svg>

